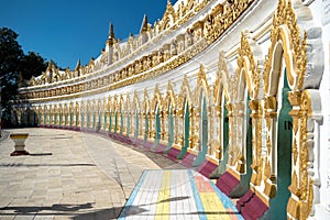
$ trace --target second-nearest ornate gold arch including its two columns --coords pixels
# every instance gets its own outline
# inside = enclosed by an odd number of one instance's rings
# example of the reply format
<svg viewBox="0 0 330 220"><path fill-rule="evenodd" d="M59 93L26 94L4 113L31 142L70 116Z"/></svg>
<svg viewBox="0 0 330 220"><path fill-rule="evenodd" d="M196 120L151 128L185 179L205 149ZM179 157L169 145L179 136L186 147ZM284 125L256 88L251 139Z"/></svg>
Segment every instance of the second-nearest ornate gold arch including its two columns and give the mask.
<svg viewBox="0 0 330 220"><path fill-rule="evenodd" d="M249 37L248 34L244 32L241 33L241 46L239 48L239 56L238 56L238 69L237 69L237 79L238 79L238 94L235 95L237 103L233 105L233 111L235 111L237 116L237 128L239 128L239 131L235 133L238 134L235 138L235 143L240 148L240 157L235 158L238 163L237 169L243 174L245 168L245 142L243 139L243 131L241 130L244 125L243 116L245 111L245 89L248 86L249 95L250 95L250 102L249 107L251 108L251 117L252 117L252 143L253 143L253 184L260 185L261 182L261 174L262 174L262 158L261 158L261 147L262 147L262 135L261 135L261 129L262 129L262 100L260 100L258 94L260 94L260 81L261 81L261 75L260 75L260 62L255 62L255 57L253 54L253 51L256 50L251 46L255 43ZM248 107L248 108L249 108ZM245 130L245 129L244 129Z"/></svg>

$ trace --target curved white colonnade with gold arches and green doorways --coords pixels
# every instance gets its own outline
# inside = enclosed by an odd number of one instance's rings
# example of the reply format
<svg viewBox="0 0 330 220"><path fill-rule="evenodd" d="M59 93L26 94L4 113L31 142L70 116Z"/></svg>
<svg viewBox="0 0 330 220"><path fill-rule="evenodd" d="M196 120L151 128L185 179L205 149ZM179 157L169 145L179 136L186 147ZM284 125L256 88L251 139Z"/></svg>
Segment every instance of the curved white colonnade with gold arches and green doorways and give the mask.
<svg viewBox="0 0 330 220"><path fill-rule="evenodd" d="M96 61L51 64L20 88L13 122L100 132L182 160L217 178L248 219L329 217L319 208L330 198L320 196L318 4L178 1L127 42L110 25Z"/></svg>

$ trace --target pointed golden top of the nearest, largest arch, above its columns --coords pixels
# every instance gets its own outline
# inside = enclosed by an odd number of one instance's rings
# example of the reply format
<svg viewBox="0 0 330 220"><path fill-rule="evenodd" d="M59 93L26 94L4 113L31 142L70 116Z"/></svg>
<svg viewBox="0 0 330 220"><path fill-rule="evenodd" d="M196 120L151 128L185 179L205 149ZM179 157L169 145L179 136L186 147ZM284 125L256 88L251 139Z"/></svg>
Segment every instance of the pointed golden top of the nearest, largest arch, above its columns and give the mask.
<svg viewBox="0 0 330 220"><path fill-rule="evenodd" d="M307 33L305 31L300 41L300 31L290 0L279 0L277 11L273 18L271 46L264 69L264 90L266 96L274 97L277 94L280 74L280 65L278 64L282 63L283 56L290 89L301 90L304 88L307 64L306 38ZM271 81L276 81L276 84L271 84Z"/></svg>

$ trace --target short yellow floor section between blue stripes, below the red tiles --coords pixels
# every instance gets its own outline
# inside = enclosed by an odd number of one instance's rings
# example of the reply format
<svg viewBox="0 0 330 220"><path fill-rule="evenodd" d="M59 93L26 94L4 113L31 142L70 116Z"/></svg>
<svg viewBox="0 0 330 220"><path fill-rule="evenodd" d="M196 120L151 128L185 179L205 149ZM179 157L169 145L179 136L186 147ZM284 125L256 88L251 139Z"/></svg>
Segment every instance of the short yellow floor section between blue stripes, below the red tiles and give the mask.
<svg viewBox="0 0 330 220"><path fill-rule="evenodd" d="M204 210L207 215L207 219L231 220L217 193L200 193L199 196L204 206Z"/></svg>

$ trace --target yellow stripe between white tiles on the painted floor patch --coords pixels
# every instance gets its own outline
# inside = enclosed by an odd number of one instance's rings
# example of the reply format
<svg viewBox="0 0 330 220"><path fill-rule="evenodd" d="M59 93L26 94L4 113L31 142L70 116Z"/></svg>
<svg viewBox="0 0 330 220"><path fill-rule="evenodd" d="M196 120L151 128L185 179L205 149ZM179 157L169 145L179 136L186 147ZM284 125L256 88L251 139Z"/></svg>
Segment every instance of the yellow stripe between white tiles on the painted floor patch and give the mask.
<svg viewBox="0 0 330 220"><path fill-rule="evenodd" d="M156 206L156 220L169 219L169 198L170 198L170 170L163 172L162 185L158 194L158 202Z"/></svg>

